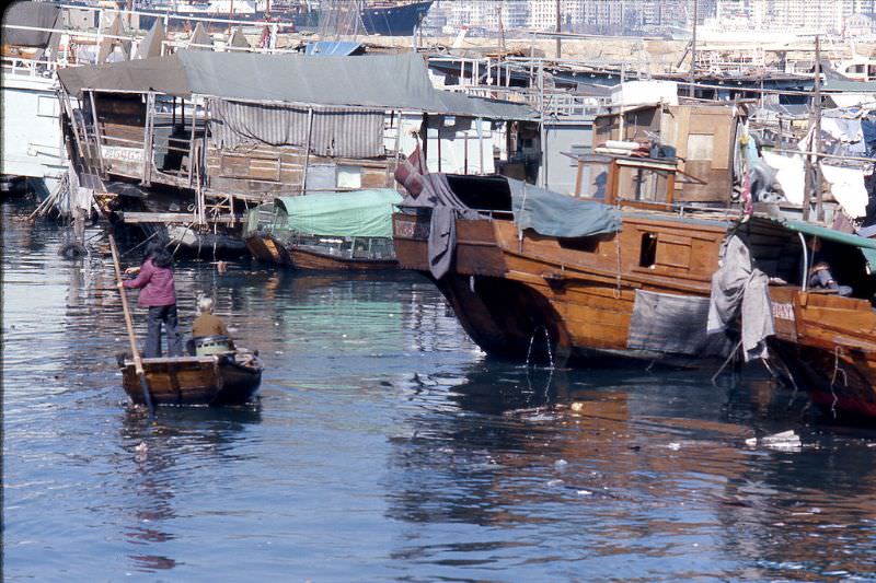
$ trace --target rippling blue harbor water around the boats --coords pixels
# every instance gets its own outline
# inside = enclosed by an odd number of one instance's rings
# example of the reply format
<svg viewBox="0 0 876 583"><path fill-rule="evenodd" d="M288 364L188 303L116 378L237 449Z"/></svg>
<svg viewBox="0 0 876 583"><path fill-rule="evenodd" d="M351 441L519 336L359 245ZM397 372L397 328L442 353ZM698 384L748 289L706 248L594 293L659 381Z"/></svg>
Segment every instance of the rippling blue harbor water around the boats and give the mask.
<svg viewBox="0 0 876 583"><path fill-rule="evenodd" d="M28 210L2 208L8 581L876 580L876 431L760 365L495 361L415 273L181 259L183 326L214 295L266 369L252 406L151 424L102 228L71 261Z"/></svg>

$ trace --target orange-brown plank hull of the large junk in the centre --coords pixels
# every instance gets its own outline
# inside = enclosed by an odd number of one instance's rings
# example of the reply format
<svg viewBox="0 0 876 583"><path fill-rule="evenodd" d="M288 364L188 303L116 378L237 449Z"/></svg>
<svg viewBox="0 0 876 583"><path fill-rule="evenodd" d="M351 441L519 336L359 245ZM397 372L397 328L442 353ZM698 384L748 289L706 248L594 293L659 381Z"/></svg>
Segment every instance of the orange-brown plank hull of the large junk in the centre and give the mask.
<svg viewBox="0 0 876 583"><path fill-rule="evenodd" d="M428 276L428 213L397 213L393 226L401 266ZM523 359L550 349L560 362L601 364L611 357L698 363L689 355L631 348L630 324L637 290L708 298L725 224L693 226L643 215L624 219L616 235L579 245L530 231L520 236L508 220L458 219L456 226L456 263L436 284L486 352ZM655 263L642 266L643 233L657 233L684 250L661 257L658 249Z"/></svg>

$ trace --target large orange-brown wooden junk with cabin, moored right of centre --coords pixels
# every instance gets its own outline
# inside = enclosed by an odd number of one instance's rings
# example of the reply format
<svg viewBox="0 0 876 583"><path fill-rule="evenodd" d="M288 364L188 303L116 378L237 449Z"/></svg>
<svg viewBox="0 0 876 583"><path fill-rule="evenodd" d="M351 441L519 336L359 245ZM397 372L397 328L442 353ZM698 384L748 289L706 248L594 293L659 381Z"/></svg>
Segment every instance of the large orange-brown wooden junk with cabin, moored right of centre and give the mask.
<svg viewBox="0 0 876 583"><path fill-rule="evenodd" d="M698 109L681 107L687 119ZM585 199L505 177L426 174L393 218L399 261L436 281L488 353L677 364L724 353L727 338L705 333L712 275L735 218L727 128L736 117L731 107L705 115L712 129L703 125L692 141L703 149L711 140L712 155L727 156L711 189L679 172L668 148L576 156Z"/></svg>

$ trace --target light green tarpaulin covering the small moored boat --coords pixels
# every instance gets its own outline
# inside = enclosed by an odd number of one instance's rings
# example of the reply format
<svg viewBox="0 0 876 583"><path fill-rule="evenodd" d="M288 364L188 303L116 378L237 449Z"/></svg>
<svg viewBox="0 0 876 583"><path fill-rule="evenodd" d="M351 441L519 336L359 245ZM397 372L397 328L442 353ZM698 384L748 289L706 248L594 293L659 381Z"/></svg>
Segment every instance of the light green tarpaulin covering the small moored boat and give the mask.
<svg viewBox="0 0 876 583"><path fill-rule="evenodd" d="M390 188L279 197L274 228L306 235L391 237L394 206Z"/></svg>

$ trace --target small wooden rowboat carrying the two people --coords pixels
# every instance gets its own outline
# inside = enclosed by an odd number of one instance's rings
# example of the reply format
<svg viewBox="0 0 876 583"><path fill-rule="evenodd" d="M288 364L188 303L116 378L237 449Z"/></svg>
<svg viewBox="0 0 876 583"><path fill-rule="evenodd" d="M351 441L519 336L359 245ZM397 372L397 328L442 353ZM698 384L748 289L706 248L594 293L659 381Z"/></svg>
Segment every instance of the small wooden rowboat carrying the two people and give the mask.
<svg viewBox="0 0 876 583"><path fill-rule="evenodd" d="M242 405L262 383L261 363L243 365L233 357L180 357L143 359L149 394L154 405ZM145 404L134 362L122 366L123 386L128 397Z"/></svg>

